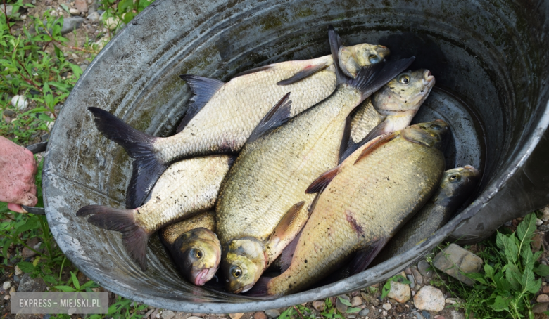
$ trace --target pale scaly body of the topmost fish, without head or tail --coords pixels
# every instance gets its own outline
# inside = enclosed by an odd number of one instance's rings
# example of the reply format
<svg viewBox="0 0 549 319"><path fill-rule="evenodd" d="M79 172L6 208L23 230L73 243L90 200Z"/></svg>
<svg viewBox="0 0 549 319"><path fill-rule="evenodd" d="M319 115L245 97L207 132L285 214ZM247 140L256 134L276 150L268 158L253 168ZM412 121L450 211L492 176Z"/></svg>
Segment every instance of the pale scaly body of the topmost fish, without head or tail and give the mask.
<svg viewBox="0 0 549 319"><path fill-rule="evenodd" d="M330 56L322 58L327 63L332 60ZM155 142L158 158L171 162L182 154L203 155L204 150L239 150L255 125L288 92L292 92L291 116L320 102L336 88L336 77L331 70L322 70L295 84L277 85L277 82L291 77L308 64L308 60L291 61L274 65L272 70L246 74L227 82L208 101L208 109L215 112L204 112L206 109L203 109L183 131Z"/></svg>

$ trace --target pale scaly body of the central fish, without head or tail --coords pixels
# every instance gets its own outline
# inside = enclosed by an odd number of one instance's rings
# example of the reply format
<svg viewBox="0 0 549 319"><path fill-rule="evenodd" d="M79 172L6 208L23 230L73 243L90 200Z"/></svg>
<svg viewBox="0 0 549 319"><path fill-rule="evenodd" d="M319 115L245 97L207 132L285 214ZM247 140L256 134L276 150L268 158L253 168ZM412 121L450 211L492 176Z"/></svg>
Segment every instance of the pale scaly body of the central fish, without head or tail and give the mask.
<svg viewBox="0 0 549 319"><path fill-rule="evenodd" d="M358 103L360 91L343 84L307 114L244 146L220 188L216 211L222 245L235 237L265 239L292 205L313 201L305 189L337 164L344 119Z"/></svg>

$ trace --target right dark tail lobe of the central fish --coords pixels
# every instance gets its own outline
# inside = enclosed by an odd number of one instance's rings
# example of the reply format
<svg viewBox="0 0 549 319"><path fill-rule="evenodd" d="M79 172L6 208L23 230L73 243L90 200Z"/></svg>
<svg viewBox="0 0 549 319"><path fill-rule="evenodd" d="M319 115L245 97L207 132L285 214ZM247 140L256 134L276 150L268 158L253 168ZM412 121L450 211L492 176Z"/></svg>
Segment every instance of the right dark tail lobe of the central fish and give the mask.
<svg viewBox="0 0 549 319"><path fill-rule="evenodd" d="M362 93L365 99L371 96L375 91L381 89L381 86L387 84L400 72L414 62L415 56L406 59L400 59L392 62L382 62L362 67L355 79L350 79L349 84L355 86Z"/></svg>

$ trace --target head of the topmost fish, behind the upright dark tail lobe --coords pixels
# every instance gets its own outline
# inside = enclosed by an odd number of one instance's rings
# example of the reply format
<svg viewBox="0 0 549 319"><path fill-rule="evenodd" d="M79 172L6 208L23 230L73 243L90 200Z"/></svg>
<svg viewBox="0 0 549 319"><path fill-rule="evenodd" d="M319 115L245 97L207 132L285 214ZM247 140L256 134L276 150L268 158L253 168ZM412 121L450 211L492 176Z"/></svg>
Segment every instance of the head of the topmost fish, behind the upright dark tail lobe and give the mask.
<svg viewBox="0 0 549 319"><path fill-rule="evenodd" d="M361 67L380 63L386 56L389 56L389 48L366 43L341 46L337 56L343 73L354 79Z"/></svg>

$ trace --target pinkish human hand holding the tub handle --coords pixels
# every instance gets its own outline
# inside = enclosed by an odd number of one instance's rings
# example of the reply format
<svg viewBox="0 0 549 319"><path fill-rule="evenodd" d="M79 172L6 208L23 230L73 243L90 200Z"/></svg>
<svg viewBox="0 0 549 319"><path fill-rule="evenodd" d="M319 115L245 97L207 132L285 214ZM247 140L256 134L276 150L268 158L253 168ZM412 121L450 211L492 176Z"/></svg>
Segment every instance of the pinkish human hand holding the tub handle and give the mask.
<svg viewBox="0 0 549 319"><path fill-rule="evenodd" d="M0 136L0 202L20 213L25 212L20 205L36 205L36 172L32 152Z"/></svg>

